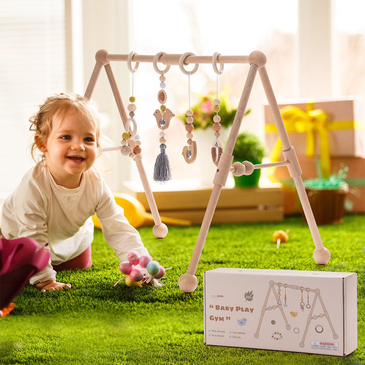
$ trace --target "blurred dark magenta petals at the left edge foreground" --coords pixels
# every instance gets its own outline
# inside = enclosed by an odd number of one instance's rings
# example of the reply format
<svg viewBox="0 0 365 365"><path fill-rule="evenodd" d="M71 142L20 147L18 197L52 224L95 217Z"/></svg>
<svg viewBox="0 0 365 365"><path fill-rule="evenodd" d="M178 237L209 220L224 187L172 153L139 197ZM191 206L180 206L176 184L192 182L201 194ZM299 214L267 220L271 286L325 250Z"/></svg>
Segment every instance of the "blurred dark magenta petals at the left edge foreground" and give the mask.
<svg viewBox="0 0 365 365"><path fill-rule="evenodd" d="M0 308L7 307L29 278L45 268L49 252L32 238L0 238Z"/></svg>

